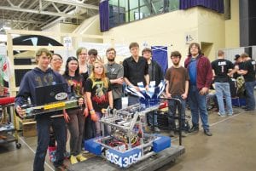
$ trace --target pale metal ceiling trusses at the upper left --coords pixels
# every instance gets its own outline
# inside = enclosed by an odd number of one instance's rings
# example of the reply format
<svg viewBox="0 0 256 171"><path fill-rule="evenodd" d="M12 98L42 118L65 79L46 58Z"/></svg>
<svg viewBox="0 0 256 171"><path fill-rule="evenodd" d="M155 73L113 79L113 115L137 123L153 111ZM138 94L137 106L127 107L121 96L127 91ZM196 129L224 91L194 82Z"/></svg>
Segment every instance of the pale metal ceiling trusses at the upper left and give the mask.
<svg viewBox="0 0 256 171"><path fill-rule="evenodd" d="M14 29L36 28L55 20L83 21L98 14L100 0L5 0L0 1L0 23ZM79 23L76 23L79 24Z"/></svg>

